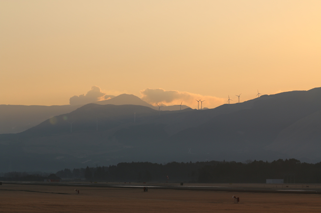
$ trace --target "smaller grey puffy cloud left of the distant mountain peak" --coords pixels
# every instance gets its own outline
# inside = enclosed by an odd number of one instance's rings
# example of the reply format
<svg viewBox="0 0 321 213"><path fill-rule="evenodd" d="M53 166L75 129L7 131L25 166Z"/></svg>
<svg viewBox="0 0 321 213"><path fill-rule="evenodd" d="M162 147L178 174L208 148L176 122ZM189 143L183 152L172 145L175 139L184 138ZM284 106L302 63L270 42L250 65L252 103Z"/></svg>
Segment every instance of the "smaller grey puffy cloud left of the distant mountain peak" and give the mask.
<svg viewBox="0 0 321 213"><path fill-rule="evenodd" d="M100 87L98 86L92 86L91 90L87 92L86 95L82 94L82 95L75 95L73 97L71 97L69 99L69 104L71 105L85 105L85 104L89 104L91 102L94 101L100 101L100 100L105 100L107 98L105 98L106 93L102 92L100 90ZM108 97L107 99L110 99L110 97Z"/></svg>

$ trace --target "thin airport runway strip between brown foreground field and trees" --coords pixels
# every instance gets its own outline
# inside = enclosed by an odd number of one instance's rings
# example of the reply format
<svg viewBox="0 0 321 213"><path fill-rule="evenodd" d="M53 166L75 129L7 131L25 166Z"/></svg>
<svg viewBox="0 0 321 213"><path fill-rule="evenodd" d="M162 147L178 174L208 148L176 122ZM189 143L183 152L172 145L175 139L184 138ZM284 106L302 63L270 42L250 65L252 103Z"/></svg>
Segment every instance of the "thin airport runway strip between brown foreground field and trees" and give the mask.
<svg viewBox="0 0 321 213"><path fill-rule="evenodd" d="M225 191L247 193L300 193L321 194L321 185L302 184L189 184L184 183L90 183L90 182L3 182L3 184L25 185L59 185L59 186L88 186L88 187L116 187L116 188L142 188L175 189L175 190L199 190L199 191ZM288 187L287 187L288 186ZM301 188L302 186L302 188ZM295 188L294 188L295 187Z"/></svg>

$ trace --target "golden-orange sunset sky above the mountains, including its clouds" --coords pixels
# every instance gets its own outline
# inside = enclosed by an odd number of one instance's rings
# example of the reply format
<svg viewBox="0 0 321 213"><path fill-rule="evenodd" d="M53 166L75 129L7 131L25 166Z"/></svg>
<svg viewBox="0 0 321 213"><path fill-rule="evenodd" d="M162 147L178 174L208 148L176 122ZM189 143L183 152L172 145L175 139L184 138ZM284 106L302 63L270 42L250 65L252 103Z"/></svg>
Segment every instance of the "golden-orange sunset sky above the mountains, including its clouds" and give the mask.
<svg viewBox="0 0 321 213"><path fill-rule="evenodd" d="M320 11L319 0L2 0L0 104L89 92L213 108L320 87Z"/></svg>

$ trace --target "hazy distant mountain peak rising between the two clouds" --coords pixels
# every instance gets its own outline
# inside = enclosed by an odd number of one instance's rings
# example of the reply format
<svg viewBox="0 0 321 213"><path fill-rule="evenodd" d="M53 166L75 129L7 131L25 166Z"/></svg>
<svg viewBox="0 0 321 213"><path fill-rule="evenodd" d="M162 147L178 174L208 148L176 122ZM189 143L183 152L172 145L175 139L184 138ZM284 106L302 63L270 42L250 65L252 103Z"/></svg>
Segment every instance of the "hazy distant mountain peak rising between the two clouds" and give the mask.
<svg viewBox="0 0 321 213"><path fill-rule="evenodd" d="M125 105L125 104L131 104L131 105L140 105L140 106L148 106L152 109L155 109L154 106L146 103L142 99L138 98L134 95L128 95L128 94L121 94L116 96L115 98L108 99L108 100L102 100L93 102L94 104L100 104L100 105L106 105L106 104L113 104L113 105Z"/></svg>

